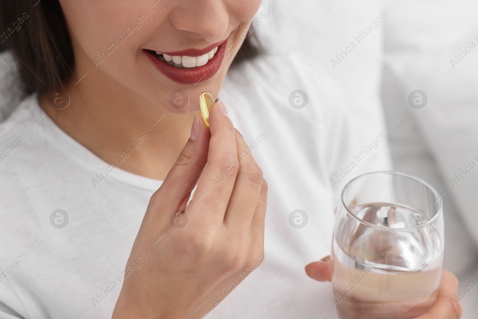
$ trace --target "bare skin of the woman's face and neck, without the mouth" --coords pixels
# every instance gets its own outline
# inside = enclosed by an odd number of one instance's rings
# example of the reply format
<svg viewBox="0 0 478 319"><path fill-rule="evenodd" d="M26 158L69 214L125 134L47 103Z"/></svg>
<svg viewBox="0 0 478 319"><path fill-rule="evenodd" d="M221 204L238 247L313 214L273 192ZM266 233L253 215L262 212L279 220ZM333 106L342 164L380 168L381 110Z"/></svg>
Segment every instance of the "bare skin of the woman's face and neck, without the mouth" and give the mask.
<svg viewBox="0 0 478 319"><path fill-rule="evenodd" d="M226 38L228 47L239 47L239 39L243 38L240 35L247 31L260 0L155 2L135 1L133 5L127 0L60 0L76 67L65 88L43 95L40 104L61 129L108 163L141 132L147 132L142 151L134 152L131 161L120 167L162 180L189 138L191 123L199 110L199 95L208 91L217 97L238 49L226 55L215 76L197 85L183 85L165 77L142 54L142 49L174 52L204 48ZM131 27L143 12L148 17L139 24L141 28L95 68L92 61L98 60L97 55L113 41L118 42L115 37ZM184 110L176 110L169 103L171 93L177 89L189 96L190 103ZM69 95L70 104L64 110L57 110L61 108L54 102L57 93L65 103Z"/></svg>

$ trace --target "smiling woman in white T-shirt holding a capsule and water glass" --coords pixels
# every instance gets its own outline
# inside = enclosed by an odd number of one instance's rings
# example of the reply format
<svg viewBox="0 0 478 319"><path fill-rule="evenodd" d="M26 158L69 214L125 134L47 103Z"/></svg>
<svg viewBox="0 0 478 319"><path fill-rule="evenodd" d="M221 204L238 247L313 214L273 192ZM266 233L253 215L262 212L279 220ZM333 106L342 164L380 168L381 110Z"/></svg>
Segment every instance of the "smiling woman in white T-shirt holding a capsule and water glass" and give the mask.
<svg viewBox="0 0 478 319"><path fill-rule="evenodd" d="M359 134L300 55L248 45L226 78L259 5L2 4L33 95L1 124L1 318L336 318L303 267L328 251ZM197 100L219 90L209 130ZM306 272L329 280L328 258ZM421 319L459 316L453 278Z"/></svg>

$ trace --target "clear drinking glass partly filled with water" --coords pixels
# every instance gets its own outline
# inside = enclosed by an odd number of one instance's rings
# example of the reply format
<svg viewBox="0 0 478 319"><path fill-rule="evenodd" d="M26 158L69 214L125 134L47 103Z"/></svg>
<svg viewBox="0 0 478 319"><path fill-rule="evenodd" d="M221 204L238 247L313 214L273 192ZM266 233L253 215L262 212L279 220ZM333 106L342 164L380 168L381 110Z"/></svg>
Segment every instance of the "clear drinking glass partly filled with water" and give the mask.
<svg viewBox="0 0 478 319"><path fill-rule="evenodd" d="M332 241L332 303L340 319L409 319L437 298L444 221L438 192L398 172L352 179Z"/></svg>

